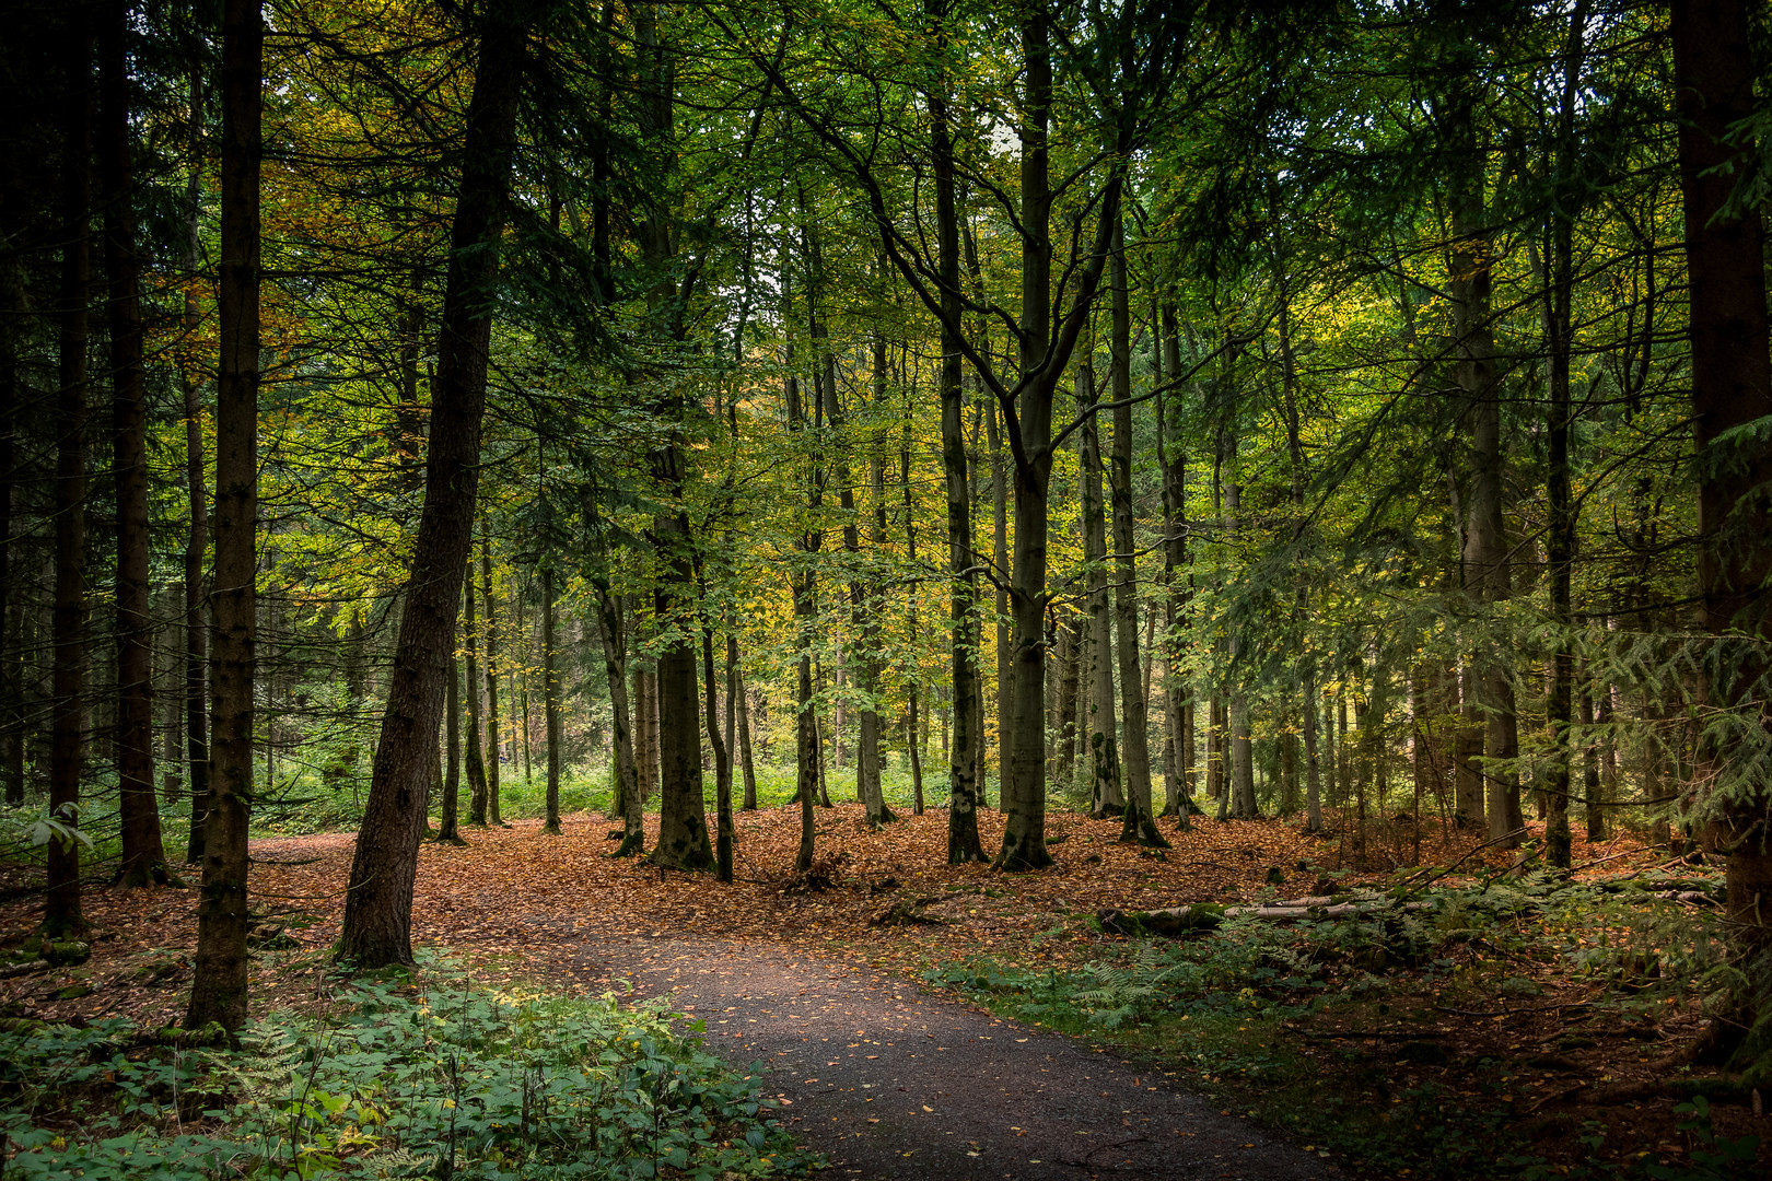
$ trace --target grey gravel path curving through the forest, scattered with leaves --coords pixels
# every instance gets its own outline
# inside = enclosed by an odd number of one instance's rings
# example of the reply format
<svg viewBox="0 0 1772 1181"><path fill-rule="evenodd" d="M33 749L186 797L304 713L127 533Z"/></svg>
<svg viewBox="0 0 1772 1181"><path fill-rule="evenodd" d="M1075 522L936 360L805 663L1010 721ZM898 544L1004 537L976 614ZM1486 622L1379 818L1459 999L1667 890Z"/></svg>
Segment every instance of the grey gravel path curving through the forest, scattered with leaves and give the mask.
<svg viewBox="0 0 1772 1181"><path fill-rule="evenodd" d="M670 995L735 1066L762 1062L831 1177L1341 1177L1161 1075L895 976L755 942L579 937L581 963Z"/></svg>

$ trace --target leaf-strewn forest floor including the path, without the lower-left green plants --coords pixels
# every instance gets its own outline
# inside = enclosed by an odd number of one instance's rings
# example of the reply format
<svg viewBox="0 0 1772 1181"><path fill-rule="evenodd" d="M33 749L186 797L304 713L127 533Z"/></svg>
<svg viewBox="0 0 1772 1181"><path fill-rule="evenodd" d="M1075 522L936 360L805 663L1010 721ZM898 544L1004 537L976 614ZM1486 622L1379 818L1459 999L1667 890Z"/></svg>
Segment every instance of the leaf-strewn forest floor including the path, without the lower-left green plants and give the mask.
<svg viewBox="0 0 1772 1181"><path fill-rule="evenodd" d="M851 804L819 811L808 889L790 875L796 809L737 825L730 887L608 859L611 823L595 814L567 816L560 838L517 822L466 830L466 846L427 843L415 944L487 979L670 993L711 1048L766 1062L785 1117L840 1177L1765 1176L1763 1149L1756 1160L1742 1140L1772 1139L1758 1096L1722 1087L1714 1107L1676 1110L1690 1094L1669 1077L1710 1073L1671 1064L1701 1029L1698 1002L1538 954L1550 922L1566 946L1589 942L1563 930L1581 926L1565 912L1414 958L1299 924L1294 951L1269 940L1223 961L1212 949L1244 947L1235 937L1125 938L1095 917L1391 887L1398 866L1464 857L1446 885L1508 864L1471 839L1387 827L1366 848L1384 868L1354 873L1341 841L1292 822L1164 822L1175 848L1157 857L1120 845L1118 822L1058 813L1058 864L1008 876L944 864L944 811L870 830ZM999 825L980 814L987 850ZM253 841L271 937L255 1006L321 992L353 841ZM1625 836L1577 843L1575 859L1595 862L1577 876L1620 878L1657 873L1667 852ZM881 924L895 907L927 922ZM87 915L92 960L0 981L5 1011L177 1020L195 891L89 891ZM30 899L0 907L0 935L23 942L34 919ZM1269 965L1286 956L1292 976L1276 979ZM1639 976L1659 970L1644 961ZM1184 977L1198 995L1170 1004ZM1090 988L1102 999L1084 1004Z"/></svg>

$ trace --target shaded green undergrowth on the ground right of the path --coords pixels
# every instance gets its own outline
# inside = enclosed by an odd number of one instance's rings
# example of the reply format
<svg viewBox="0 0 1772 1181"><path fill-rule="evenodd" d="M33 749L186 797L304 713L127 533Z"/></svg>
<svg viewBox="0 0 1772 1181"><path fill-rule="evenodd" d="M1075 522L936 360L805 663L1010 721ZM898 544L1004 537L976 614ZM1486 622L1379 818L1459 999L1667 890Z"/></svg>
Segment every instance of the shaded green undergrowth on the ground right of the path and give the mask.
<svg viewBox="0 0 1772 1181"><path fill-rule="evenodd" d="M1448 1052L1435 1032L1446 1018L1434 1006L1529 1009L1547 990L1566 997L1574 988L1577 1009L1618 1023L1666 1013L1669 1002L1712 1007L1742 986L1742 972L1710 912L1655 898L1675 887L1714 884L1650 873L1572 885L1535 873L1457 889L1356 891L1336 901L1370 903L1372 914L1295 922L1224 915L1210 935L1185 940L1100 940L1084 958L1038 969L1026 958L973 958L930 967L925 979L1005 1016L1090 1038L1102 1052L1154 1059L1164 1075L1247 1105L1366 1176L1611 1176L1540 1156L1512 1107L1517 1055ZM1318 1029L1398 1032L1363 1045L1359 1034L1336 1041ZM1630 1165L1636 1176L1756 1176L1758 1139L1712 1133L1703 1096L1680 1110L1689 1158L1662 1165L1644 1156ZM1588 1156L1607 1146L1598 1123L1568 1131ZM1616 1133L1605 1151L1623 1151Z"/></svg>

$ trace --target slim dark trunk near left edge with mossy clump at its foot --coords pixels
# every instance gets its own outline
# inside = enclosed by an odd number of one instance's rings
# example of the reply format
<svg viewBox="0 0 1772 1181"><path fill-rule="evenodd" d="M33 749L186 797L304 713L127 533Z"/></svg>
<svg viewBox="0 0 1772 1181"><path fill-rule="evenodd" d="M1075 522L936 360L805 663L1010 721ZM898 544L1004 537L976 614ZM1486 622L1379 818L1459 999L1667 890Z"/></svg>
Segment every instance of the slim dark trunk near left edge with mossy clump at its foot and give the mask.
<svg viewBox="0 0 1772 1181"><path fill-rule="evenodd" d="M92 32L85 9L67 9L67 87L62 127L60 391L55 400L55 600L50 671L50 813L76 823L87 715L87 301L90 297ZM80 845L50 841L46 935L82 931Z"/></svg>

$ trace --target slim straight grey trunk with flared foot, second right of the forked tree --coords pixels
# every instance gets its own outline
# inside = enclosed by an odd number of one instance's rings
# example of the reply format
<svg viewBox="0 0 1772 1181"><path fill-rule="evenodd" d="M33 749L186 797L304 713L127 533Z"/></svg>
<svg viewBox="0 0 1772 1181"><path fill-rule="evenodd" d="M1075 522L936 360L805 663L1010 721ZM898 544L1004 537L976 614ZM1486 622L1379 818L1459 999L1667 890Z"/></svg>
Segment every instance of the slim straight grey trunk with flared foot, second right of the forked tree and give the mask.
<svg viewBox="0 0 1772 1181"><path fill-rule="evenodd" d="M1120 636L1120 717L1125 719L1122 745L1125 747L1125 825L1122 841L1138 841L1148 848L1170 848L1157 832L1150 811L1150 717L1146 714L1145 676L1138 655L1138 556L1132 536L1132 306L1127 292L1125 227L1113 228L1113 257L1109 260L1109 297L1113 324L1108 351L1113 367L1113 466L1109 489L1113 496L1113 547L1118 586L1115 588L1115 621Z"/></svg>

